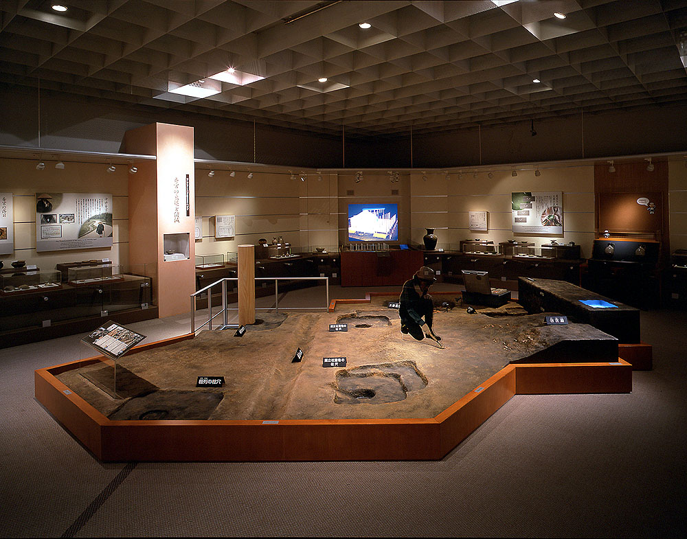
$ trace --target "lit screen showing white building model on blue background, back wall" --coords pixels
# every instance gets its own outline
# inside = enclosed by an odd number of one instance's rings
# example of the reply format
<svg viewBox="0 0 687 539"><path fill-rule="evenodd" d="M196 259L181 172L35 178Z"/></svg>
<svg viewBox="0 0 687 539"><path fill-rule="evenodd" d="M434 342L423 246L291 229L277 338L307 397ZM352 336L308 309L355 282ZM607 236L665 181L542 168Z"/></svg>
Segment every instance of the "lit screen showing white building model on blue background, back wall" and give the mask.
<svg viewBox="0 0 687 539"><path fill-rule="evenodd" d="M397 242L398 204L349 204L348 241Z"/></svg>

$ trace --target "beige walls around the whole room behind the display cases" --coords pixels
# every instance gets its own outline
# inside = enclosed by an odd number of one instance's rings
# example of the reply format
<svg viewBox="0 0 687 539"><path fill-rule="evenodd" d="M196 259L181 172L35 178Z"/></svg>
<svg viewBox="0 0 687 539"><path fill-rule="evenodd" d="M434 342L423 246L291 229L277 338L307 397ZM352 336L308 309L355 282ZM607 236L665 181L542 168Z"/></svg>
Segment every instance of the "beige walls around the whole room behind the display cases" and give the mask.
<svg viewBox="0 0 687 539"><path fill-rule="evenodd" d="M58 262L108 257L115 264L128 263L128 172L118 166L109 174L102 163L66 163L56 170L55 161L45 161L38 171L37 160L0 159L0 191L14 193L14 255L2 255L6 265L22 258L29 264L52 269ZM561 191L565 212L564 233L552 236L559 242L574 241L582 246L583 257L592 255L594 239L594 166L591 163L566 163L565 166L521 170L513 178L510 170L493 172L480 168L464 170L462 179L442 172L401 174L399 183L391 183L386 172L363 171L363 180L355 183L354 172L319 175L307 170L306 181L291 180L289 169L270 168L269 172L247 171L229 176L229 170L216 170L207 176L207 168L196 168L196 215L202 216L203 239L195 242L199 255L236 252L238 244L271 241L282 236L296 248L326 247L330 250L346 240L347 205L374 201L397 202L399 238L402 242L422 243L425 228L433 227L439 247L449 248L466 238L488 238L495 243L511 238L534 241L539 245L549 237L514 235L510 227L510 193L513 191ZM300 170L293 171L300 175ZM353 194L347 194L352 190ZM398 194L392 194L398 190ZM687 249L687 168L683 161L669 163L669 202L671 251ZM34 194L38 191L111 192L113 194L114 237L112 249L74 251L35 251ZM469 231L468 212L488 211L488 232ZM236 215L236 237L214 238L214 216Z"/></svg>

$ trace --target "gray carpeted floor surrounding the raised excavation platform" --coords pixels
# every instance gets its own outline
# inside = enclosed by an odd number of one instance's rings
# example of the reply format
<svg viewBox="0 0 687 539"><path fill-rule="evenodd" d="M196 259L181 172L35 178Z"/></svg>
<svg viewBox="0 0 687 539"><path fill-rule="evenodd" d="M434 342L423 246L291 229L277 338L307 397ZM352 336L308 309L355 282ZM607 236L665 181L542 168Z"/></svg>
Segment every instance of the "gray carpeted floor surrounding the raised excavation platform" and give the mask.
<svg viewBox="0 0 687 539"><path fill-rule="evenodd" d="M436 462L102 464L33 397L34 369L93 355L81 336L1 349L0 536L684 537L686 328L642 312L631 394L518 395Z"/></svg>

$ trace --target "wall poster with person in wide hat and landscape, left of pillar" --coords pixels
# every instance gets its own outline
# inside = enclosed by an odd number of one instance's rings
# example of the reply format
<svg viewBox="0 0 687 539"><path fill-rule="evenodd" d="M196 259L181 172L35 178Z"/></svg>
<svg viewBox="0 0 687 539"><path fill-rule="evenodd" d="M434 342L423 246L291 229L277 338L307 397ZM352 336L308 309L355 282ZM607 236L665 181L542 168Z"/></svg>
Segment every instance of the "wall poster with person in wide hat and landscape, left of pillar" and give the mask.
<svg viewBox="0 0 687 539"><path fill-rule="evenodd" d="M111 246L111 194L36 193L36 251Z"/></svg>

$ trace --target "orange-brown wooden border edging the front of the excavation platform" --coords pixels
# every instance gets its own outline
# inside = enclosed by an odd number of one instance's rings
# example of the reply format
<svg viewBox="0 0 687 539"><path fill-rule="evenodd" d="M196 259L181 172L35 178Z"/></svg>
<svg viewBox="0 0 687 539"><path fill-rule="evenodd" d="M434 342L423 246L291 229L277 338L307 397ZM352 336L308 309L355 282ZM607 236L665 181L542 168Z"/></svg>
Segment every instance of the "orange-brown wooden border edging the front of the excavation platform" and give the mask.
<svg viewBox="0 0 687 539"><path fill-rule="evenodd" d="M153 348L184 335L143 345ZM510 364L432 418L370 420L111 421L56 374L88 358L34 372L36 399L100 461L438 460L513 395L627 393L632 365Z"/></svg>

